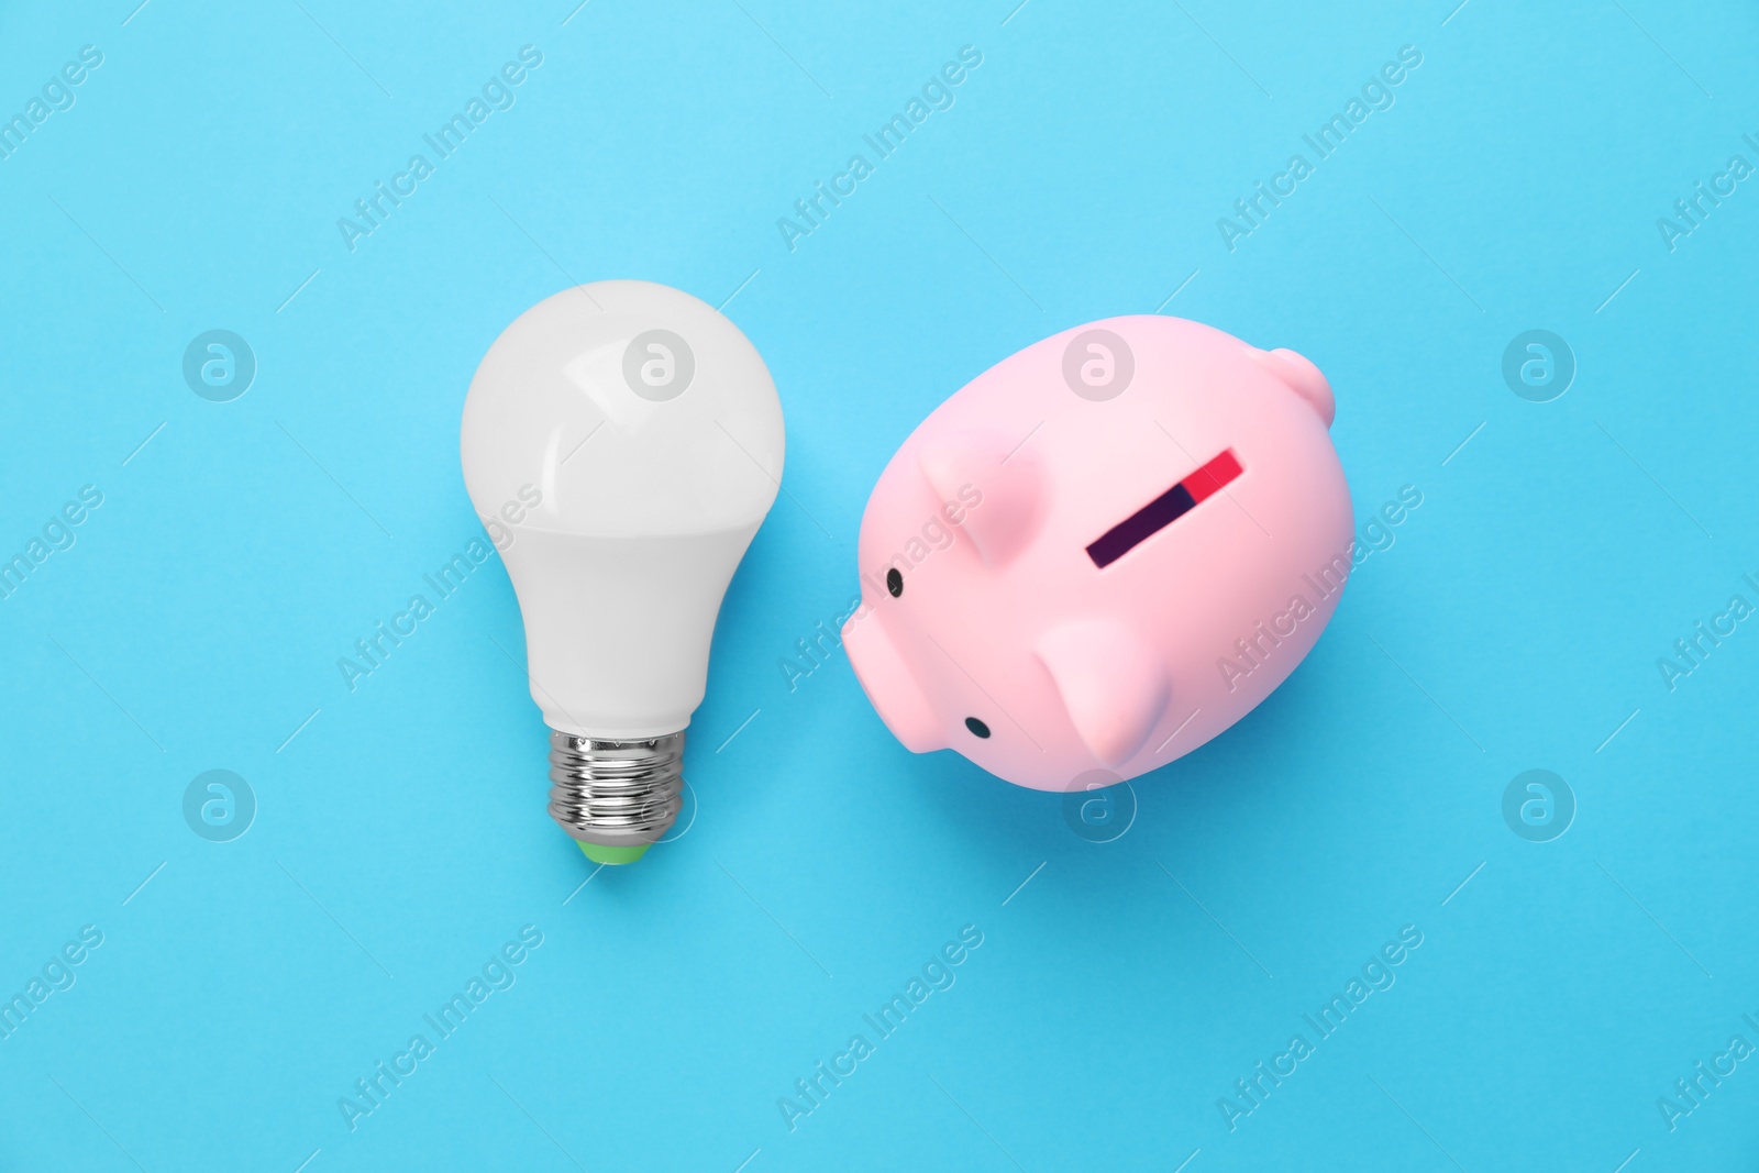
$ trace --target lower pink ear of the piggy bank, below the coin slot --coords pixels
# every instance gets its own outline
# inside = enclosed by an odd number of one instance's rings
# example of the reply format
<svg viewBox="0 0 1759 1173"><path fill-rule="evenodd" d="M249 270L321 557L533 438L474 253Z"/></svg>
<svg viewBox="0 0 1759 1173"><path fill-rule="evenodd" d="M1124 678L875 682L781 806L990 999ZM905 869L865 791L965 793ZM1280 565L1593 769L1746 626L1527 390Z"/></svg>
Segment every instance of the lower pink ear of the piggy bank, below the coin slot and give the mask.
<svg viewBox="0 0 1759 1173"><path fill-rule="evenodd" d="M1057 684L1075 732L1106 765L1122 765L1171 702L1171 684L1152 649L1110 619L1082 619L1047 631L1034 647Z"/></svg>

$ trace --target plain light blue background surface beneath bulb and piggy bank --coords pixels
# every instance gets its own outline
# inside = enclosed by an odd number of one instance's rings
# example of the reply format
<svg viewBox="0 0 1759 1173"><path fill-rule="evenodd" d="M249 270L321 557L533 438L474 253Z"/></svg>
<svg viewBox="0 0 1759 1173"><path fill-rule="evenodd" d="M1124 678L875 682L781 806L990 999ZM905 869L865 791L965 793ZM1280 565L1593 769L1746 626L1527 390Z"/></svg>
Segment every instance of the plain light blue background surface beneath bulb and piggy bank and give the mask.
<svg viewBox="0 0 1759 1173"><path fill-rule="evenodd" d="M1655 1101L1759 1043L1759 631L1675 691L1655 661L1759 601L1759 181L1675 251L1655 220L1759 164L1759 18L1453 2L9 4L5 116L104 65L0 160L0 550L104 505L0 603L0 992L104 944L0 1041L0 1168L1750 1168L1759 1062L1676 1131ZM350 253L338 216L524 44L517 106ZM957 106L790 251L777 216L966 44ZM1228 251L1405 44L1397 106ZM612 276L737 290L797 505L721 612L693 825L580 888L498 563L357 691L336 659L480 533L489 341ZM908 754L841 654L779 663L936 403L1163 306L1317 361L1358 515L1423 505L1094 844ZM1500 376L1534 327L1578 361L1546 404ZM234 403L183 383L208 329L255 350ZM1553 842L1500 814L1532 767L1580 804ZM209 769L255 790L234 842L183 821ZM350 1133L338 1097L522 925L517 985ZM777 1097L962 925L957 985L790 1133ZM1402 925L1397 985L1230 1133Z"/></svg>

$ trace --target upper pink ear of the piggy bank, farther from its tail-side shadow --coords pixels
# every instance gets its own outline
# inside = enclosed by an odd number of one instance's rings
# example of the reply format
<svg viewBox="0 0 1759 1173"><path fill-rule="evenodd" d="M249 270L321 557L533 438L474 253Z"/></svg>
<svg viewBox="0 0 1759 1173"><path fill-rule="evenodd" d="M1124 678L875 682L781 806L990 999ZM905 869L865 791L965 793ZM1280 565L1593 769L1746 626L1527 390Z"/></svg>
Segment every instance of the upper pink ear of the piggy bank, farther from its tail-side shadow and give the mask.
<svg viewBox="0 0 1759 1173"><path fill-rule="evenodd" d="M1043 521L1043 473L1018 436L955 427L916 448L916 466L941 503L960 512L959 531L989 566L1025 549Z"/></svg>

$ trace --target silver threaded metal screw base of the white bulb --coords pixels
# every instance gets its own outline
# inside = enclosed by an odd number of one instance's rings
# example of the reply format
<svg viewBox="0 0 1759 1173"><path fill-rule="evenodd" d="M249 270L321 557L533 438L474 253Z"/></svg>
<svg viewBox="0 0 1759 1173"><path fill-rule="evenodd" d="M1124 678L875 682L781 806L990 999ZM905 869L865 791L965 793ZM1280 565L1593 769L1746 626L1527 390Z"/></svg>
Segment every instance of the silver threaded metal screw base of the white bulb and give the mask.
<svg viewBox="0 0 1759 1173"><path fill-rule="evenodd" d="M684 805L684 732L640 740L551 730L551 818L605 848L658 842Z"/></svg>

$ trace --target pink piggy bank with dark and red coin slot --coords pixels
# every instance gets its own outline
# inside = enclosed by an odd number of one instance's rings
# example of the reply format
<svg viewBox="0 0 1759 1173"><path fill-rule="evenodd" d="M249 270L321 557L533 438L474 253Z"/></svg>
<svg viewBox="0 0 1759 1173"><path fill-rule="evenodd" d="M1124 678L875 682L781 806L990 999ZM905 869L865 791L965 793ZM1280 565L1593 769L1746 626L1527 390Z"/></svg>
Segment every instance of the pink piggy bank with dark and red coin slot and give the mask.
<svg viewBox="0 0 1759 1173"><path fill-rule="evenodd" d="M887 728L1034 790L1136 777L1265 700L1351 568L1332 387L1157 315L1003 359L874 485L843 628Z"/></svg>

